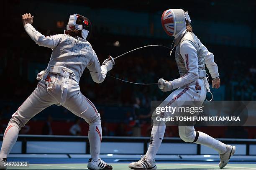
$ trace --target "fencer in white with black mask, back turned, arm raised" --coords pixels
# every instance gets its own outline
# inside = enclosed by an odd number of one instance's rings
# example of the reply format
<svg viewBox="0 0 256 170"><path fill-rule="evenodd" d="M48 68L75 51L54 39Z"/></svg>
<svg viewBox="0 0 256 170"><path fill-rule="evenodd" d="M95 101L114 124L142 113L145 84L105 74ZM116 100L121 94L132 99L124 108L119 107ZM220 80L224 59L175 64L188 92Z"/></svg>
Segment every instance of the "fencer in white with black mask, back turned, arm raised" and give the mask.
<svg viewBox="0 0 256 170"><path fill-rule="evenodd" d="M79 79L84 69L90 71L93 81L101 83L113 67L113 58L106 59L102 66L95 51L87 41L91 31L90 20L82 15L70 15L64 34L45 37L33 26L31 14L22 15L23 25L33 41L39 46L52 49L47 69L38 74L38 83L33 93L12 115L5 130L0 152L0 169L6 169L4 162L15 144L18 133L32 117L53 104L61 105L84 119L89 125L91 157L88 168L92 170L112 169L100 159L102 138L100 114L92 102L79 88ZM77 36L72 36L74 31Z"/></svg>

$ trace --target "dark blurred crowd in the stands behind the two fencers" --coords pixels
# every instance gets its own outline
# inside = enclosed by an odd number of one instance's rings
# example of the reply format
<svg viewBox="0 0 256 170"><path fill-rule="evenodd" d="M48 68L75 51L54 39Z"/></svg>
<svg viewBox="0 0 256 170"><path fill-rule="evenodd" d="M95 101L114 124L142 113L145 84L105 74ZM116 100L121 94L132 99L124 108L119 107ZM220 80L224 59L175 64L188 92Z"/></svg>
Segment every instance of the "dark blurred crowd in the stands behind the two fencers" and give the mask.
<svg viewBox="0 0 256 170"><path fill-rule="evenodd" d="M13 14L14 21L1 32L6 46L0 47L0 134L3 134L11 115L36 88L36 74L46 68L51 56L50 49L38 47L28 37L22 28L21 18L16 16L18 14ZM45 36L62 33L35 27ZM100 63L108 55L115 57L144 45L170 47L173 40L118 35L109 33L108 29L98 25L93 25L92 29L90 43ZM195 33L199 33L197 36L200 38L200 30L195 30ZM204 43L203 40L202 43L214 53L219 68L221 86L212 90L214 100L256 100L255 47ZM168 81L176 79L179 77L177 65L174 54L169 56L169 52L163 47L150 47L129 53L116 59L113 70L108 74L137 83L156 83L160 78ZM149 136L151 101L164 100L171 93L162 92L155 85L128 84L112 77L96 84L87 69L80 79L80 88L100 112L102 133L106 136ZM213 137L256 138L255 127L198 128ZM87 135L88 125L68 110L53 106L33 118L21 129L21 134ZM178 137L177 127L166 127L165 136Z"/></svg>

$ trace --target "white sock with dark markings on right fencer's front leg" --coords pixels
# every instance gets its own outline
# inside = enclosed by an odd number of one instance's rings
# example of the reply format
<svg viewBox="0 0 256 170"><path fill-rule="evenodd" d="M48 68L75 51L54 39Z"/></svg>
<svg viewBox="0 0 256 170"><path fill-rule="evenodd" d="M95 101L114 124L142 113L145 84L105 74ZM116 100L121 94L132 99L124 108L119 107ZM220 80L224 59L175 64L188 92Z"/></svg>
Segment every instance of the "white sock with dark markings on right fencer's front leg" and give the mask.
<svg viewBox="0 0 256 170"><path fill-rule="evenodd" d="M148 146L148 151L146 157L153 161L156 157L156 153L164 138L165 125L163 126L153 126L151 131L150 142Z"/></svg>

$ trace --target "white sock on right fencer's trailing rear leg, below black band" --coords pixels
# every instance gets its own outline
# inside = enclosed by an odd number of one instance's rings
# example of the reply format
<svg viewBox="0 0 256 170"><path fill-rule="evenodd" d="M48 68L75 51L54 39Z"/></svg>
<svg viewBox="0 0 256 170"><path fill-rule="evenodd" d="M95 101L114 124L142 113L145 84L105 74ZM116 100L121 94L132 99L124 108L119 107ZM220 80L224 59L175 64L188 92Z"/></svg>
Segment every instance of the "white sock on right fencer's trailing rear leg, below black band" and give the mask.
<svg viewBox="0 0 256 170"><path fill-rule="evenodd" d="M210 137L208 134L205 134L199 131L197 132L198 132L198 139L195 142L196 144L211 147L212 149L218 151L220 154L223 154L227 151L226 144L220 142L219 140L215 140L213 137Z"/></svg>

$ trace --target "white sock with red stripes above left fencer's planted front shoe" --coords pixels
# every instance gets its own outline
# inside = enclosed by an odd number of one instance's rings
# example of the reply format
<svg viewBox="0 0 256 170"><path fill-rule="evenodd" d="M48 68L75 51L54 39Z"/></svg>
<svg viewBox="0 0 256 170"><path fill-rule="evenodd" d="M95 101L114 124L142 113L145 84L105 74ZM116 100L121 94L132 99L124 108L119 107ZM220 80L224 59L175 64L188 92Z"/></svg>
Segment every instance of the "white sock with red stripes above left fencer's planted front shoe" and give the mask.
<svg viewBox="0 0 256 170"><path fill-rule="evenodd" d="M90 153L92 159L96 162L100 158L100 143L101 143L101 125L90 125L89 127L89 142L90 142Z"/></svg>

